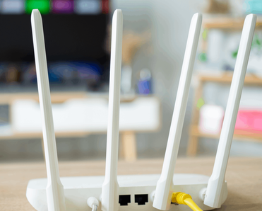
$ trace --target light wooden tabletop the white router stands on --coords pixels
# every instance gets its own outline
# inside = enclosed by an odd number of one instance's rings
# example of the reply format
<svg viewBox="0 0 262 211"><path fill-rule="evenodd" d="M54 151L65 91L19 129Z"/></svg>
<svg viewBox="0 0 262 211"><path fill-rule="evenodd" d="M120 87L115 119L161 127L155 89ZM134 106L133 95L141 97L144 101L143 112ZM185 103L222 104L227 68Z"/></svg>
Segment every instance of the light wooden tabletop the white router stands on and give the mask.
<svg viewBox="0 0 262 211"><path fill-rule="evenodd" d="M201 173L210 176L214 158L179 159L175 173ZM60 176L95 176L105 173L105 161L59 162ZM162 159L119 161L120 174L160 173ZM32 178L46 177L44 163L0 164L0 210L34 210L25 197ZM228 197L217 210L262 210L262 158L230 158L226 180Z"/></svg>

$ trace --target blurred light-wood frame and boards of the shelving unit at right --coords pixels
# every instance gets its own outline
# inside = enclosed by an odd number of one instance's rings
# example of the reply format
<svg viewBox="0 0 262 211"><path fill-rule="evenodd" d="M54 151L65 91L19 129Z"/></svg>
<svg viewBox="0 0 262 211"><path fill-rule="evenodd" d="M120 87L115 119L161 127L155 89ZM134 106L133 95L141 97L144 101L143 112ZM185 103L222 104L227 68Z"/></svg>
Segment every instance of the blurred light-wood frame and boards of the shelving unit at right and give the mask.
<svg viewBox="0 0 262 211"><path fill-rule="evenodd" d="M216 17L208 17L203 19L203 29L218 29L218 30L242 30L244 24L244 18L230 18L228 16L216 16ZM262 28L262 18L258 17L256 21L256 29ZM204 39L201 45L201 51L206 52L208 50L208 40ZM203 86L206 82L216 83L216 84L231 84L232 81L232 72L225 72L221 69L220 75L211 75L212 70L210 70L210 74L198 74L196 75L196 79L198 81L198 86L195 91L195 97L193 101L193 111L192 111L192 120L190 127L190 135L189 135L189 144L187 148L187 154L189 156L195 156L198 148L198 139L200 137L208 137L208 138L219 138L220 134L213 135L204 133L198 130L198 120L199 120L199 110L197 108L198 99L202 97L203 94ZM254 74L246 74L245 79L246 86L262 86L262 79ZM245 130L235 130L234 138L237 139L253 139L256 141L262 140L262 134L259 133L251 133Z"/></svg>

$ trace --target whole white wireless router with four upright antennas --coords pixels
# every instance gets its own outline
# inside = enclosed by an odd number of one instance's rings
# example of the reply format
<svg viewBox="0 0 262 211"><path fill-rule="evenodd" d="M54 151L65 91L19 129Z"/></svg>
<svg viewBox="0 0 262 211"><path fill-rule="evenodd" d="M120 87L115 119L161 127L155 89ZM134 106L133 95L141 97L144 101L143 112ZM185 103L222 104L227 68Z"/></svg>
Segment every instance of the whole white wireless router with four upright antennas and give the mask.
<svg viewBox="0 0 262 211"><path fill-rule="evenodd" d="M28 183L26 196L32 207L42 211L189 210L189 207L193 210L213 210L213 208L220 207L225 202L227 198L225 169L254 35L256 16L249 15L244 22L218 154L210 178L198 174L174 174L201 22L201 14L196 13L192 18L189 29L177 101L174 105L172 125L161 175L117 176L123 18L121 10L116 10L112 21L105 176L60 178L42 19L38 10L32 11L37 86L47 164L47 178L33 179ZM186 205L189 205L189 207Z"/></svg>

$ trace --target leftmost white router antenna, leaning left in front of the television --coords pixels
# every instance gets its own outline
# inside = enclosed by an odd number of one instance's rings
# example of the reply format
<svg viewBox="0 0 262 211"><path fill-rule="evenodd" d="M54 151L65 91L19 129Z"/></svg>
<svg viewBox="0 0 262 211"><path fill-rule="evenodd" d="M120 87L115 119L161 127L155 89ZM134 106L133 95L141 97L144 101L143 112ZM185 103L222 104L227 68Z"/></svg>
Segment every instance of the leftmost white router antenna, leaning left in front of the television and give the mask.
<svg viewBox="0 0 262 211"><path fill-rule="evenodd" d="M47 72L47 57L44 48L44 32L42 18L37 9L32 11L32 39L35 51L35 67L40 109L42 115L42 130L44 138L44 153L47 165L47 207L49 211L65 211L64 187L59 178L56 139L51 107L51 97Z"/></svg>

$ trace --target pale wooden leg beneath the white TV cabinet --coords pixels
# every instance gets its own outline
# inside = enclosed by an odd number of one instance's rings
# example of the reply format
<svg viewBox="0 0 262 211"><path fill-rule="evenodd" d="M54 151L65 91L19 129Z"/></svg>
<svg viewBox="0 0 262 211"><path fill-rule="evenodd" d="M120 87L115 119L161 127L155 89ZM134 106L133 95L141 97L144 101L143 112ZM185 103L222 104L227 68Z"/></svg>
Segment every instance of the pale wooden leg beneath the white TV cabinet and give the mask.
<svg viewBox="0 0 262 211"><path fill-rule="evenodd" d="M131 131L123 132L121 135L121 142L124 152L124 159L129 162L136 161L136 134Z"/></svg>

